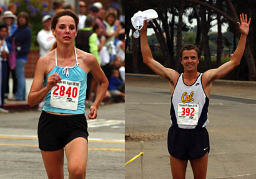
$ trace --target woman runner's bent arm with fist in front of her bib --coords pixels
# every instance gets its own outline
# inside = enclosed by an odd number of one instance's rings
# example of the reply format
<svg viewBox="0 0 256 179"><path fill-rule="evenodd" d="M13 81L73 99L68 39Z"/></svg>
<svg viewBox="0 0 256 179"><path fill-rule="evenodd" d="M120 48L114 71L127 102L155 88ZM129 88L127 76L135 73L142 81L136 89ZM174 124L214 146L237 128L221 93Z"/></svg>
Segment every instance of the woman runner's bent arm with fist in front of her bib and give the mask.
<svg viewBox="0 0 256 179"><path fill-rule="evenodd" d="M54 73L49 76L47 80L47 85L42 88L43 80L44 80L44 74L46 73L46 62L41 58L38 60L36 64L36 70L34 74L34 80L31 85L31 89L29 91L29 95L27 98L27 104L29 104L30 107L35 106L36 104L39 104L44 98L46 97L46 94L51 91L51 88L56 85L57 82L61 81L61 77L59 74Z"/></svg>

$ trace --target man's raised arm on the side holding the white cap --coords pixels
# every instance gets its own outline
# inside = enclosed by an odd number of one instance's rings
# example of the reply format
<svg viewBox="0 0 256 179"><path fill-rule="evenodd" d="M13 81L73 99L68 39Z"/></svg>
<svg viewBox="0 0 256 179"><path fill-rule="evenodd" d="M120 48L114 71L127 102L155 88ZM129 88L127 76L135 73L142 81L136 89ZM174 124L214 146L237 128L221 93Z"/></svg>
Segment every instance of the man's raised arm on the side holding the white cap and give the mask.
<svg viewBox="0 0 256 179"><path fill-rule="evenodd" d="M147 21L144 21L142 29L140 29L140 47L143 57L143 62L151 68L157 75L162 76L166 80L174 83L179 77L179 73L170 68L165 68L159 62L155 61L147 42Z"/></svg>

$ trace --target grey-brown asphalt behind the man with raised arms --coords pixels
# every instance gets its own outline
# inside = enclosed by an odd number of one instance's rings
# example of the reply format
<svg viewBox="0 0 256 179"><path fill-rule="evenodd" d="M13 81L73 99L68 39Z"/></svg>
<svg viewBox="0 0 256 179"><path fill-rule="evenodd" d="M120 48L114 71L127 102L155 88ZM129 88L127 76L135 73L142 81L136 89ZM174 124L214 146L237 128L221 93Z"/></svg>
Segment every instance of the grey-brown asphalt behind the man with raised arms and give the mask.
<svg viewBox="0 0 256 179"><path fill-rule="evenodd" d="M126 162L144 141L145 178L172 178L167 132L170 89L165 80L126 76ZM207 178L256 178L256 86L214 84L210 95ZM141 178L140 158L125 167ZM190 164L186 178L194 178Z"/></svg>

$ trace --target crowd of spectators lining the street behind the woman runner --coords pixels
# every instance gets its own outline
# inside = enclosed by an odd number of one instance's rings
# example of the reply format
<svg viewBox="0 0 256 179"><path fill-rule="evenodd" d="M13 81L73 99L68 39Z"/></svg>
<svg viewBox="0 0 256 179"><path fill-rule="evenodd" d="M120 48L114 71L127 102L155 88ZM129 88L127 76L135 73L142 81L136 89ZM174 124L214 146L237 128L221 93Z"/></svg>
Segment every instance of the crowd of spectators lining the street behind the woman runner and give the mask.
<svg viewBox="0 0 256 179"><path fill-rule="evenodd" d="M17 14L17 8L15 3L10 3L4 12L0 7L0 112L8 112L4 109L5 98L12 101L26 100L24 65L31 48L32 32L29 14ZM37 32L40 58L50 51L56 41L51 32L51 18L58 9L75 11L72 4L64 3L63 0L52 2L52 9L42 16L42 29ZM92 53L98 60L109 80L106 99L113 102L124 101L125 96L124 22L119 20L118 10L118 6L104 7L101 2L86 4L86 1L79 1L79 25L74 42L77 48ZM13 81L12 88L9 78ZM87 74L87 78L85 103L91 105L96 97L97 83L91 73ZM9 93L12 93L12 98L9 98ZM39 107L42 105L43 102Z"/></svg>

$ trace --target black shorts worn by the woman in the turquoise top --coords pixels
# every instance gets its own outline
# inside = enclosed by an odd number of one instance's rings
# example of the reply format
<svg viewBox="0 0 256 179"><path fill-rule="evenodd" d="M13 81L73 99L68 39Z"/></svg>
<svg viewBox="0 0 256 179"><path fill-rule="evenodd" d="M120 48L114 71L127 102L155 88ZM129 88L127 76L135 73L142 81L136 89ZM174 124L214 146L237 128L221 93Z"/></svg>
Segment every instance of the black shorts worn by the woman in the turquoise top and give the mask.
<svg viewBox="0 0 256 179"><path fill-rule="evenodd" d="M39 149L63 149L71 140L84 137L88 141L87 121L84 114L61 116L42 111L37 128Z"/></svg>

